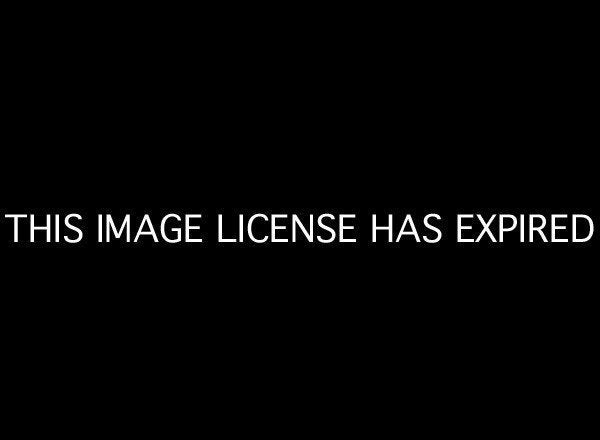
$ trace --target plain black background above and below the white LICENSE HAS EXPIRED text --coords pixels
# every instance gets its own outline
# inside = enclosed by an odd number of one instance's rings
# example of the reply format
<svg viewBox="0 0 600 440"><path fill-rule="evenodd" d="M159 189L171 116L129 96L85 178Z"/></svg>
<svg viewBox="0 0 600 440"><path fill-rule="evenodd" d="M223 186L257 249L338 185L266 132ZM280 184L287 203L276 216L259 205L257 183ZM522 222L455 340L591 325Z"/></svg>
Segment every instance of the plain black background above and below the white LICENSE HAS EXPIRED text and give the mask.
<svg viewBox="0 0 600 440"><path fill-rule="evenodd" d="M597 238L460 246L453 218L597 221L592 29L539 11L247 12L30 11L3 55L2 213L356 212L361 243L5 240L12 413L572 429L594 389ZM428 212L440 245L368 244L371 213Z"/></svg>

